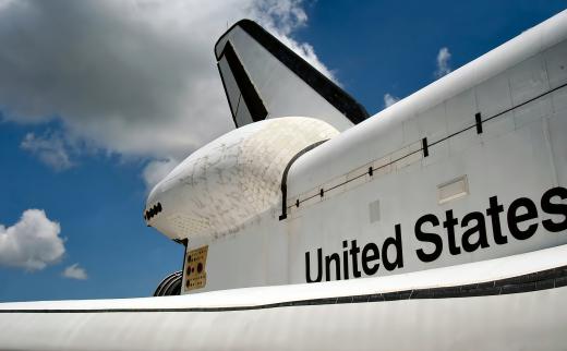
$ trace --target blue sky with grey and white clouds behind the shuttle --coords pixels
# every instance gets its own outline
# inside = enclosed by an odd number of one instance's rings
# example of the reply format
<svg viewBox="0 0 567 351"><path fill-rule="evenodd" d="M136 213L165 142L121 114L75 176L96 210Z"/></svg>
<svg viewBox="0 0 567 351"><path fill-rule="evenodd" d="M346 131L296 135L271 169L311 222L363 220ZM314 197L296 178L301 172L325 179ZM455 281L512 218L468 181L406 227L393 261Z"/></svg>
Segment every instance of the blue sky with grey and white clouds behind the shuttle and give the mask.
<svg viewBox="0 0 567 351"><path fill-rule="evenodd" d="M233 128L213 56L233 22L255 20L374 114L564 8L0 0L0 301L145 296L181 267L142 208Z"/></svg>

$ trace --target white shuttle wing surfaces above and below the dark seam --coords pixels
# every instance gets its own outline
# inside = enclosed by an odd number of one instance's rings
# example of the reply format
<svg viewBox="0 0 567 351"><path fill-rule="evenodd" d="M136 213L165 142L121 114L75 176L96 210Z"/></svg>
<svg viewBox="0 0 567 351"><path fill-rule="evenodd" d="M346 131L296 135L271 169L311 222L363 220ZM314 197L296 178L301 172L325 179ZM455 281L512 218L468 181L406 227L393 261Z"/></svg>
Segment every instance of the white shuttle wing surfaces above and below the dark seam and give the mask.
<svg viewBox="0 0 567 351"><path fill-rule="evenodd" d="M439 300L240 312L3 314L1 310L251 306L482 282L567 265L567 245L389 277L182 296L0 304L0 348L20 350L562 350L567 288Z"/></svg>

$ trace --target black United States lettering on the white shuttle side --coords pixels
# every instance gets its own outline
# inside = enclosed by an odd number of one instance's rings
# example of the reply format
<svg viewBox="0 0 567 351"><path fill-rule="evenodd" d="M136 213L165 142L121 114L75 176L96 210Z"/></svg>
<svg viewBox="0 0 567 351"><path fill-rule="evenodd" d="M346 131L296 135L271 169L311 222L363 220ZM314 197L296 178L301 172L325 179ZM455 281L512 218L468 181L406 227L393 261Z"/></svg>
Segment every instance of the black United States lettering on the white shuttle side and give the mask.
<svg viewBox="0 0 567 351"><path fill-rule="evenodd" d="M567 189L556 186L543 193L540 201L541 213L535 203L528 197L518 197L505 208L497 196L491 196L485 211L471 211L461 219L453 209L445 211L444 219L433 214L423 215L415 221L413 231L418 243L424 243L425 246L418 247L415 254L421 262L431 263L443 255L444 247L448 247L446 255L456 256L487 249L491 243L505 245L508 238L503 232L503 226L508 228L511 238L517 241L529 240L539 228L551 233L567 231L566 199ZM504 225L500 222L500 214L504 214ZM492 227L492 240L488 227ZM311 253L306 252L306 281L322 281L323 277L325 280L349 279L351 273L354 278L362 277L362 274L373 276L378 273L381 266L387 271L403 268L401 225L395 225L394 230L395 234L385 238L382 246L373 242L359 246L357 240L351 240L349 247L349 241L343 240L342 254L324 255L323 249L319 247L313 263ZM315 278L311 275L312 264L317 266Z"/></svg>

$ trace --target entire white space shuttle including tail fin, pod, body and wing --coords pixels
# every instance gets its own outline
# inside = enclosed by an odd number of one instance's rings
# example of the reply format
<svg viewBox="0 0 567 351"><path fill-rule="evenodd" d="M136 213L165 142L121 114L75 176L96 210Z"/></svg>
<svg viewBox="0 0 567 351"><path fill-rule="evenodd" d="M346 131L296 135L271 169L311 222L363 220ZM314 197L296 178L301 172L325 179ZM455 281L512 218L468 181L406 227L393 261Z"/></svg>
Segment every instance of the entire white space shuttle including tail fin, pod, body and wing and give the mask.
<svg viewBox="0 0 567 351"><path fill-rule="evenodd" d="M149 193L154 296L0 304L0 349L565 350L567 11L370 116L258 24L234 130Z"/></svg>

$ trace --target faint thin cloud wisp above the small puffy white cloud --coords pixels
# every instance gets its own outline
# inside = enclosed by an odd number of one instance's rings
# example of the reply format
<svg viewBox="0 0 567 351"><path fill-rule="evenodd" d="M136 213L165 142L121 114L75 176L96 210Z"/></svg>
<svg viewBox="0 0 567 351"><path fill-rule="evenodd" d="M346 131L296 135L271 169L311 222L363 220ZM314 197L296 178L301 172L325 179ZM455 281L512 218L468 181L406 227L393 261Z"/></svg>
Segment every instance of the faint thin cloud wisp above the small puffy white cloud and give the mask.
<svg viewBox="0 0 567 351"><path fill-rule="evenodd" d="M44 136L36 136L34 133L27 133L22 144L20 144L20 147L31 152L44 164L57 171L73 167L64 142L58 135L46 134Z"/></svg>

